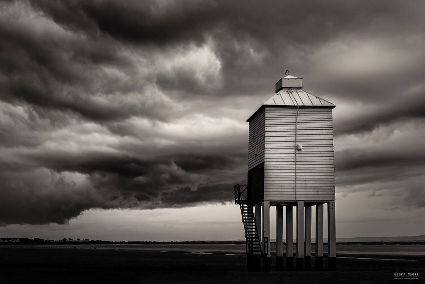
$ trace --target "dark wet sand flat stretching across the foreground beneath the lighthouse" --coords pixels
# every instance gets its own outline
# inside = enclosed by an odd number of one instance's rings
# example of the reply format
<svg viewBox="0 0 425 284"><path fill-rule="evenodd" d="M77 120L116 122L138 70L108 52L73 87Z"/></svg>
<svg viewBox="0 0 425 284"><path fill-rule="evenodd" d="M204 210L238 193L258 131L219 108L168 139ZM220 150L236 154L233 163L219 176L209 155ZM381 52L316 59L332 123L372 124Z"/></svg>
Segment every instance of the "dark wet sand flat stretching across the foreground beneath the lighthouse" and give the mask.
<svg viewBox="0 0 425 284"><path fill-rule="evenodd" d="M94 249L96 247L96 249ZM239 251L163 246L0 245L0 283L423 283L425 256L337 254L337 269L247 272ZM314 257L313 257L314 266ZM395 279L394 273L419 273Z"/></svg>

